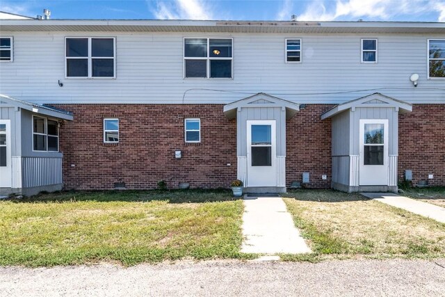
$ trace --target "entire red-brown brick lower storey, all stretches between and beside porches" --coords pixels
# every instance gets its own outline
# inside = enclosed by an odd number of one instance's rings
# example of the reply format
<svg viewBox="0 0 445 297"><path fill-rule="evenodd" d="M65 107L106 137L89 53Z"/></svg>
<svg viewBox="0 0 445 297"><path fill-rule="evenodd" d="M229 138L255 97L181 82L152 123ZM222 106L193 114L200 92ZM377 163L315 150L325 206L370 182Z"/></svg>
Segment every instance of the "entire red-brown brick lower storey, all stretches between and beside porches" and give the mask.
<svg viewBox="0 0 445 297"><path fill-rule="evenodd" d="M236 178L236 120L222 104L60 104L74 113L60 128L65 188L227 188ZM331 122L321 120L332 104L308 104L286 122L286 186L310 173L308 188L330 188ZM120 118L120 143L103 143L103 119ZM184 118L201 118L199 144L184 143ZM414 105L400 116L399 180L413 170L414 185L434 174L430 185L445 185L445 104ZM175 159L175 150L182 158ZM231 166L227 166L230 163ZM74 165L74 167L72 166ZM321 175L327 175L323 180Z"/></svg>

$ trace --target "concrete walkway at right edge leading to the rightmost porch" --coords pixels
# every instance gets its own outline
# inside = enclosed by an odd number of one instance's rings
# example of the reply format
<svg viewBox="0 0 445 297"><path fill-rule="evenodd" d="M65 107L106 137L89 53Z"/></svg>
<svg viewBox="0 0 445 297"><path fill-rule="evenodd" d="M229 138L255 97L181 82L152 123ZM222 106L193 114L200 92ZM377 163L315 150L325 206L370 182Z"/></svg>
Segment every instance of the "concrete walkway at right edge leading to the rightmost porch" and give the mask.
<svg viewBox="0 0 445 297"><path fill-rule="evenodd" d="M414 214L426 216L432 218L440 223L445 223L445 208L438 207L427 202L417 201L404 196L396 195L393 193L362 193L367 198L371 198L393 207L398 207L411 211Z"/></svg>

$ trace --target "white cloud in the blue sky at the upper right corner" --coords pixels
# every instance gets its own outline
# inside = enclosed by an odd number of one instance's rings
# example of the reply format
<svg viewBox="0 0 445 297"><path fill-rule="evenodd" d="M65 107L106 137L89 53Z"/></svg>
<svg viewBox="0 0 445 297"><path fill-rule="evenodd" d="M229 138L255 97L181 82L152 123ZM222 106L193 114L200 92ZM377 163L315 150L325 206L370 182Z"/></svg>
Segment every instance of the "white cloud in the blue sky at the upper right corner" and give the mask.
<svg viewBox="0 0 445 297"><path fill-rule="evenodd" d="M439 13L439 22L445 20L445 2L442 0L334 0L331 10L327 10L325 1L316 0L307 6L298 16L299 20L329 21L369 17L389 20L397 15L420 15Z"/></svg>

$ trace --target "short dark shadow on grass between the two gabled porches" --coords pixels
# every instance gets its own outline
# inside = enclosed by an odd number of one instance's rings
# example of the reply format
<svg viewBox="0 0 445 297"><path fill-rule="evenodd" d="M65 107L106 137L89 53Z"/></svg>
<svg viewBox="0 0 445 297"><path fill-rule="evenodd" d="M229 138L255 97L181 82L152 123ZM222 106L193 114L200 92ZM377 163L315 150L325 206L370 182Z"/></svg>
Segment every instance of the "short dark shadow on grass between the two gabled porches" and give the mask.
<svg viewBox="0 0 445 297"><path fill-rule="evenodd" d="M316 189L297 189L282 194L282 198L293 198L300 201L314 202L353 202L367 201L369 198L359 193L344 193L334 190L316 190Z"/></svg>

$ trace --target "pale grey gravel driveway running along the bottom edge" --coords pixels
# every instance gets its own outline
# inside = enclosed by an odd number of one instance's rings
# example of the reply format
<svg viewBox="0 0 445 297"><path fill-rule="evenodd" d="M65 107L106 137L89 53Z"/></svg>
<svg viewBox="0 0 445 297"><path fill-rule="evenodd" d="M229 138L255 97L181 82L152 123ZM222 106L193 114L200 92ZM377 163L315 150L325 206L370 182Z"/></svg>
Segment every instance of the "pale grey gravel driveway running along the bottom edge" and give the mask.
<svg viewBox="0 0 445 297"><path fill-rule="evenodd" d="M445 259L0 268L1 296L445 296Z"/></svg>

